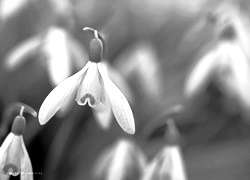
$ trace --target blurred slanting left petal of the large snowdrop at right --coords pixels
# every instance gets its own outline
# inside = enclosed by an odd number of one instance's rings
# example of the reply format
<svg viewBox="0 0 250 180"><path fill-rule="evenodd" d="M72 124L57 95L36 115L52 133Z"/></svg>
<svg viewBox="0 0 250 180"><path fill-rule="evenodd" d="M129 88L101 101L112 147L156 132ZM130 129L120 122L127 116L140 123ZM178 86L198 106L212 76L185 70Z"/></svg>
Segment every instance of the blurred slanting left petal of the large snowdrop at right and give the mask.
<svg viewBox="0 0 250 180"><path fill-rule="evenodd" d="M185 95L193 97L194 94L204 90L209 83L209 78L213 75L216 65L218 64L217 50L206 54L193 68L190 73L185 87Z"/></svg>

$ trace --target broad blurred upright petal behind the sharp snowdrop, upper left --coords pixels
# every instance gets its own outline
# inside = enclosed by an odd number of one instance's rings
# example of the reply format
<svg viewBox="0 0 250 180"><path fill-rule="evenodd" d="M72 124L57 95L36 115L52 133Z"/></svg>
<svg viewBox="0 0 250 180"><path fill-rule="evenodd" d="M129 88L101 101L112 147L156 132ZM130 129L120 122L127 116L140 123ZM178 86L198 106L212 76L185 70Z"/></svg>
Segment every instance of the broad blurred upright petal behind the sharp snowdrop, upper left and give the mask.
<svg viewBox="0 0 250 180"><path fill-rule="evenodd" d="M68 78L72 64L67 46L68 34L65 30L51 27L44 39L43 52L46 55L49 78L53 86Z"/></svg>

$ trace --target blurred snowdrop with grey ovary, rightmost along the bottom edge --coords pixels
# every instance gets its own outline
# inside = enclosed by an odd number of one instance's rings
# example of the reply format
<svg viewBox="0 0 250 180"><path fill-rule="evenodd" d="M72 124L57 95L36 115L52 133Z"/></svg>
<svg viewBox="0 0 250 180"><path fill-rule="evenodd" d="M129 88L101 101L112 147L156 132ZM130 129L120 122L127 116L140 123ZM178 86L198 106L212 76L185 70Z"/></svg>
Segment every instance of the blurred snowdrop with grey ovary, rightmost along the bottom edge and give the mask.
<svg viewBox="0 0 250 180"><path fill-rule="evenodd" d="M186 180L186 170L178 141L178 131L173 120L167 121L168 145L158 152L154 159L144 169L141 180Z"/></svg>

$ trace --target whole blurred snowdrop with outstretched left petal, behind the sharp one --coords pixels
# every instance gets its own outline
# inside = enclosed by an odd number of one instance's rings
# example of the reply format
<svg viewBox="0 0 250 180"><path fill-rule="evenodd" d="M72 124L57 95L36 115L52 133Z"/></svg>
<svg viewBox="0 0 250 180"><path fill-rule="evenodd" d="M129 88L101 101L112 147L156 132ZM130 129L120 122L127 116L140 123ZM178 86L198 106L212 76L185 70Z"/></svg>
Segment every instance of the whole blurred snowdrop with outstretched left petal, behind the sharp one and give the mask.
<svg viewBox="0 0 250 180"><path fill-rule="evenodd" d="M38 34L14 48L5 58L7 70L15 70L31 56L45 57L45 66L53 86L68 78L73 68L84 65L82 59L86 52L70 34L61 27L51 26L46 32ZM58 68L60 67L60 68Z"/></svg>

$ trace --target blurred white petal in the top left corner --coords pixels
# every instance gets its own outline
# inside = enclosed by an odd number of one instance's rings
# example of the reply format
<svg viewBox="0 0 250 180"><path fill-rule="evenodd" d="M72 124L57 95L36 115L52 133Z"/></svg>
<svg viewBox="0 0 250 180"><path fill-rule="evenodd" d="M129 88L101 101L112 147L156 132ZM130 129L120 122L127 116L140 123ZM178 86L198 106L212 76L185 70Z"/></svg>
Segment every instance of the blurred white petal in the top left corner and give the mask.
<svg viewBox="0 0 250 180"><path fill-rule="evenodd" d="M1 0L0 1L0 20L6 21L11 16L20 12L25 6L34 0Z"/></svg>

